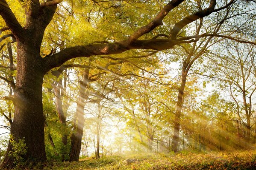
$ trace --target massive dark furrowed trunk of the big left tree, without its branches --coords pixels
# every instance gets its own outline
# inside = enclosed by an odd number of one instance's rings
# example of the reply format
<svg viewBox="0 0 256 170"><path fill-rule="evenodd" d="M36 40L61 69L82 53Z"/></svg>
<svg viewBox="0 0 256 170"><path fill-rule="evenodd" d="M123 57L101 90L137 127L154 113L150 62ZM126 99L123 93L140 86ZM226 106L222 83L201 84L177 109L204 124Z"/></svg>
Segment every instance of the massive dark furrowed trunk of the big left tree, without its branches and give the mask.
<svg viewBox="0 0 256 170"><path fill-rule="evenodd" d="M25 139L27 161L45 161L44 147L44 114L42 105L42 84L44 72L41 66L39 48L33 42L18 41L17 76L14 91L15 114L11 134L15 141ZM3 167L13 167L14 157L9 153L12 143L9 142Z"/></svg>

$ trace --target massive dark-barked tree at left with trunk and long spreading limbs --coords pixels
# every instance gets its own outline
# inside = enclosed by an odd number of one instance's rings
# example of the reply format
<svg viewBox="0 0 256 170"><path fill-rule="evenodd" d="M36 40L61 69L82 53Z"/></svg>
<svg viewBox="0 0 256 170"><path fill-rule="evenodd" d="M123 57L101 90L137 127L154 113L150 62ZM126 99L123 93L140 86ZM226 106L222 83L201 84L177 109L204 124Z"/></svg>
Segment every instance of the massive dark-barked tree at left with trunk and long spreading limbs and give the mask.
<svg viewBox="0 0 256 170"><path fill-rule="evenodd" d="M184 17L176 23L171 29L169 36L164 35L165 38L159 38L162 34L157 34L156 37L151 39L147 39L147 36L145 36L143 37L143 39L145 38L144 40L138 40L150 31L156 30L156 27L164 25L163 19L167 14L184 1L172 0L159 10L159 13L150 23L138 28L124 40L109 43L96 42L88 45L77 45L43 57L40 49L44 32L53 19L57 5L62 1L63 0L47 0L46 2L40 3L39 0L19 0L23 9L18 11L24 11L23 15L25 15L26 18L23 25L19 23L6 0L0 0L0 14L7 29L11 31L11 34L8 36L14 37L17 41L16 87L12 98L15 114L11 133L15 141L25 139L27 152L24 156L24 160L26 161L46 160L42 84L44 75L47 74L48 71L77 57L119 54L131 49L165 50L174 48L174 46L178 44L197 41L201 37L212 36L212 34L200 34L180 38L177 35L179 31L189 23L208 16L213 12L221 11L231 4L238 2L231 0L223 6L220 5L222 3L216 6L216 1L211 0L209 7L197 11L188 17ZM69 2L67 0L65 3L72 3L72 1ZM214 34L214 36L227 37L221 34ZM255 44L255 42L251 43ZM11 150L12 144L9 142L2 167L10 168L13 166L13 157L9 155Z"/></svg>

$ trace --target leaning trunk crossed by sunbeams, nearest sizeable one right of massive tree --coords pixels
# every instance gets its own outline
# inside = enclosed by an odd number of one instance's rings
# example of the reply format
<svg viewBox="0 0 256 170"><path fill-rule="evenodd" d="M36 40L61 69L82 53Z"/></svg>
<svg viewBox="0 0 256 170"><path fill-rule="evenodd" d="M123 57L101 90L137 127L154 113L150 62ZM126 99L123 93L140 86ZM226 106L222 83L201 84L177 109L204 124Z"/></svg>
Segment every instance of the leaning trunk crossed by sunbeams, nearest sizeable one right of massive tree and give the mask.
<svg viewBox="0 0 256 170"><path fill-rule="evenodd" d="M69 155L69 161L78 161L79 154L81 150L82 144L82 134L83 127L85 123L84 118L84 108L85 108L85 100L88 98L88 92L86 93L86 88L88 85L89 78L89 69L85 69L85 74L83 80L79 82L79 98L77 101L77 110L74 120L74 129L71 135L71 152Z"/></svg>

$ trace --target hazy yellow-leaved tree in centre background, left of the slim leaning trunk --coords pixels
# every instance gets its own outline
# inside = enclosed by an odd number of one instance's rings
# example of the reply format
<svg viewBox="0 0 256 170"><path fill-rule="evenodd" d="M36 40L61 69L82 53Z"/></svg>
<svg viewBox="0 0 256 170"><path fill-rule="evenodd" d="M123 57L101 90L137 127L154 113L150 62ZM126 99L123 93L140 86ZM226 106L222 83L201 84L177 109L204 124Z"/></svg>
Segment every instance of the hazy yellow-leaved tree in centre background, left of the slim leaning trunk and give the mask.
<svg viewBox="0 0 256 170"><path fill-rule="evenodd" d="M144 70L152 71L152 67L146 67ZM159 72L161 71L160 68ZM169 95L164 88L166 84L163 75L154 72L155 74L141 71L142 78L134 78L127 82L128 84L122 82L126 89L118 88L116 91L124 111L128 113L124 115L127 125L137 131L139 143L150 151L153 150L153 140L157 130L162 129L159 125L170 112L167 106L170 103L166 99Z"/></svg>

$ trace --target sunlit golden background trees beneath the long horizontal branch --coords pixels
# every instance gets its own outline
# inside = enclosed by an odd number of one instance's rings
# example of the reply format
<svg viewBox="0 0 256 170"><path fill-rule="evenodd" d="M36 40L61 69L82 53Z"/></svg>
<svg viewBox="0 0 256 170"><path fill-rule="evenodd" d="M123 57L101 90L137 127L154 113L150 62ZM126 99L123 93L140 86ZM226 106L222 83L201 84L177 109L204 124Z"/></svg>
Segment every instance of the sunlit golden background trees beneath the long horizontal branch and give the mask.
<svg viewBox="0 0 256 170"><path fill-rule="evenodd" d="M256 142L255 51L252 45L224 42L229 47L221 51L224 55L212 49L207 53L208 63L197 63L186 78L178 151L250 148ZM12 60L11 45L7 47L9 51L3 53ZM182 65L170 71L159 55L165 58L167 54L152 54L142 62L101 59L96 63L90 58L84 61L87 65L67 64L47 75L43 88L47 157L78 161L82 155L100 158L174 150ZM10 84L2 85L12 93ZM13 106L8 101L3 106L10 127Z"/></svg>

